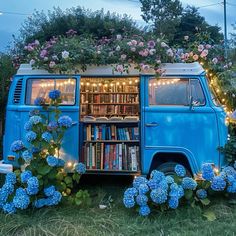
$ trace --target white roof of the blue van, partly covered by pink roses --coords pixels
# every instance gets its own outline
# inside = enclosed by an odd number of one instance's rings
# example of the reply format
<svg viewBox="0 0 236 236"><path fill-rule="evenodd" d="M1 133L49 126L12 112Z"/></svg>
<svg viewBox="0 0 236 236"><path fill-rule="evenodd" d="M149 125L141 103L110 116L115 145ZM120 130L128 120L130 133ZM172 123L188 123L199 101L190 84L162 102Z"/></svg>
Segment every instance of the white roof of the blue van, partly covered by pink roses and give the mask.
<svg viewBox="0 0 236 236"><path fill-rule="evenodd" d="M204 69L198 62L193 63L165 63L161 65L161 69L163 70L162 75L201 75L204 73ZM21 64L17 75L47 75L50 74L48 71L43 69L33 69L30 64ZM112 76L112 75L140 75L140 74L155 74L154 70L148 71L139 71L134 69L132 66L129 70L129 73L120 73L114 71L112 65L106 66L88 66L87 70L84 72L79 72L78 74L82 76L92 76L92 75L104 75L104 76Z"/></svg>

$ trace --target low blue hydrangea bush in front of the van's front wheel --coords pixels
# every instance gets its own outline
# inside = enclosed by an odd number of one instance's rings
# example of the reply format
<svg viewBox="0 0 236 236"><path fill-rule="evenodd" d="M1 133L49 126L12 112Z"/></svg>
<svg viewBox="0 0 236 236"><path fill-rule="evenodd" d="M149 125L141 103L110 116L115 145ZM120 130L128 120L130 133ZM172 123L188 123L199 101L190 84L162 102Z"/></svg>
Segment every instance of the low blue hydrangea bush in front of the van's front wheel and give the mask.
<svg viewBox="0 0 236 236"><path fill-rule="evenodd" d="M141 216L148 216L152 208L176 209L181 203L208 205L209 198L219 192L236 193L236 168L228 166L217 173L206 163L194 179L186 176L184 166L178 164L174 176L153 170L149 179L135 178L133 186L124 192L123 203L126 208L138 207Z"/></svg>

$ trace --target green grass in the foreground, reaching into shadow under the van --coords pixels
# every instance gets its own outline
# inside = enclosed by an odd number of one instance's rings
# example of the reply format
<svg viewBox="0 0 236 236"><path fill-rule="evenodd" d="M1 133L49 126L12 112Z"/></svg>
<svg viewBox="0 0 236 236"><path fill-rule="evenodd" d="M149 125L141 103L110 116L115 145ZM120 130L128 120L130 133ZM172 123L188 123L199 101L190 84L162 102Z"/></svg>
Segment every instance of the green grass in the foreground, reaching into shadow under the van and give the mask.
<svg viewBox="0 0 236 236"><path fill-rule="evenodd" d="M84 182L84 181L83 181ZM104 184L105 183L105 184ZM210 209L217 219L207 221L198 208L181 207L176 211L154 212L148 218L138 216L135 210L125 209L122 193L130 184L127 178L89 178L83 183L93 195L92 206L58 206L28 210L16 215L0 213L0 235L235 235L236 206L226 200L215 200ZM112 196L111 207L98 205Z"/></svg>

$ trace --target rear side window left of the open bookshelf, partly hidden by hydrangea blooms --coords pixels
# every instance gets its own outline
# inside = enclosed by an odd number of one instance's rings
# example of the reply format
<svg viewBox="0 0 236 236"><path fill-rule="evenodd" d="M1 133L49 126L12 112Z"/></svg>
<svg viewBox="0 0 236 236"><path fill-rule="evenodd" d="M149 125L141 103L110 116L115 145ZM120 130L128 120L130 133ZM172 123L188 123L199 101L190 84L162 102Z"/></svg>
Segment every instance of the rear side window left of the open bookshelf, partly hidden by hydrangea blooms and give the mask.
<svg viewBox="0 0 236 236"><path fill-rule="evenodd" d="M28 79L26 90L26 104L34 105L38 97L43 97L49 103L48 93L53 89L61 91L62 105L75 104L75 84L73 78L66 79Z"/></svg>

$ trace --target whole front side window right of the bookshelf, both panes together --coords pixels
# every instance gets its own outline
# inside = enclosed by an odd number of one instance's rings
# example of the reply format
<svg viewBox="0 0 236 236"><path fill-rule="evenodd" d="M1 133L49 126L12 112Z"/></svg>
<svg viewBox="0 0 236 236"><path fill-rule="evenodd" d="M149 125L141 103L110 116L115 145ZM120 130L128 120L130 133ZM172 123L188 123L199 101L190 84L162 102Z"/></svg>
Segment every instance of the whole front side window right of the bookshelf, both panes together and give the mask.
<svg viewBox="0 0 236 236"><path fill-rule="evenodd" d="M195 106L205 104L205 97L197 79L160 78L149 80L150 106L189 106L190 96Z"/></svg>

